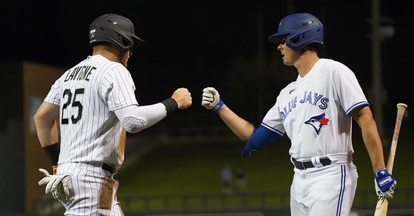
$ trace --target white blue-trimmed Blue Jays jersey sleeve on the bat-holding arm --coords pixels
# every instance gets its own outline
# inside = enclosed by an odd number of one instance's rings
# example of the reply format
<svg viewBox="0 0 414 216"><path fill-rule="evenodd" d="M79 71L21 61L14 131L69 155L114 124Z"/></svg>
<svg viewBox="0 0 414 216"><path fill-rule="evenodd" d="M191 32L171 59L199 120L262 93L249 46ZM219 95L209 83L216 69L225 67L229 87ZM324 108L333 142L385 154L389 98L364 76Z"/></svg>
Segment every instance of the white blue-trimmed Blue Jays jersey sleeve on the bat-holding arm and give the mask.
<svg viewBox="0 0 414 216"><path fill-rule="evenodd" d="M335 70L333 83L337 91L337 98L347 116L351 115L355 108L369 105L357 77L345 65L339 66Z"/></svg>

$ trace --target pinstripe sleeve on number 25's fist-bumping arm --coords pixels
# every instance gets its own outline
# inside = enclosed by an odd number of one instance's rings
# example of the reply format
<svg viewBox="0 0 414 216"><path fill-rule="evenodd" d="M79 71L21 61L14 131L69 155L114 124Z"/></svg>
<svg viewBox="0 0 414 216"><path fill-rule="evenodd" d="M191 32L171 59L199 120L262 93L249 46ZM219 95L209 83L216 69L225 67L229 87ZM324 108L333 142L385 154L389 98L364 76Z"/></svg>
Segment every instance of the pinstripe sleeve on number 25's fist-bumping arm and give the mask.
<svg viewBox="0 0 414 216"><path fill-rule="evenodd" d="M113 67L104 76L101 94L103 94L103 100L108 103L110 111L130 105L138 105L132 76L128 69L122 65Z"/></svg>

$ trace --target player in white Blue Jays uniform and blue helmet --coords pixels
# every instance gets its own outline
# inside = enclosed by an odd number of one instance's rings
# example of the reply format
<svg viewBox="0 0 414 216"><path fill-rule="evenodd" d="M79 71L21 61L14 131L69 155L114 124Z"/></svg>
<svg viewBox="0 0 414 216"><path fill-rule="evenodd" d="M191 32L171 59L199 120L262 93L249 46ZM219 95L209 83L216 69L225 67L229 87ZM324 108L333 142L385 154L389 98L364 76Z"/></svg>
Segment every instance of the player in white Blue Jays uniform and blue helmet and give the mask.
<svg viewBox="0 0 414 216"><path fill-rule="evenodd" d="M203 91L201 105L213 109L246 142L242 157L286 133L295 172L291 215L349 215L358 178L352 159L355 120L371 158L377 195L393 197L396 181L385 168L377 126L355 74L317 55L324 39L322 23L311 14L290 14L268 39L279 44L284 65L293 65L299 76L280 91L258 128L231 111L214 87Z"/></svg>

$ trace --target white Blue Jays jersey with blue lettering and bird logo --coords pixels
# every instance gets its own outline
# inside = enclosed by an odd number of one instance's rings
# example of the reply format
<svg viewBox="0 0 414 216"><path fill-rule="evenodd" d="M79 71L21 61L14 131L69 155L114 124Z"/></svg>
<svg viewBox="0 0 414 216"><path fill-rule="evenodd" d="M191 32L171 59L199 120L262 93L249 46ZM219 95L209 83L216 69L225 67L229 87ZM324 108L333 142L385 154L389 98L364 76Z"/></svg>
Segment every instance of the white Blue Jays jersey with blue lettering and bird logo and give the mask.
<svg viewBox="0 0 414 216"><path fill-rule="evenodd" d="M353 153L352 118L356 107L368 105L355 74L337 61L322 58L304 77L287 85L263 124L290 138L296 159Z"/></svg>

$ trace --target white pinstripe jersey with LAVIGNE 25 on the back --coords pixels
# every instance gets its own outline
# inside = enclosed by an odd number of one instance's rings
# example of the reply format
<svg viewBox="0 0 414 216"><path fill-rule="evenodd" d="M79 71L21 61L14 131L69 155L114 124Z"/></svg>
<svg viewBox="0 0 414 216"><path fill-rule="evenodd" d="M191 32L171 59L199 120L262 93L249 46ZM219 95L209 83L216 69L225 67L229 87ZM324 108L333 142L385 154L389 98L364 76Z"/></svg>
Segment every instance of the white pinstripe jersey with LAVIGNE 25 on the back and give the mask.
<svg viewBox="0 0 414 216"><path fill-rule="evenodd" d="M128 69L95 55L68 69L52 85L45 101L59 105L59 163L124 161L123 127L113 112L138 105Z"/></svg>

